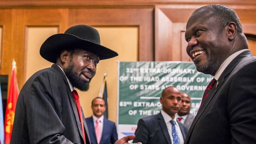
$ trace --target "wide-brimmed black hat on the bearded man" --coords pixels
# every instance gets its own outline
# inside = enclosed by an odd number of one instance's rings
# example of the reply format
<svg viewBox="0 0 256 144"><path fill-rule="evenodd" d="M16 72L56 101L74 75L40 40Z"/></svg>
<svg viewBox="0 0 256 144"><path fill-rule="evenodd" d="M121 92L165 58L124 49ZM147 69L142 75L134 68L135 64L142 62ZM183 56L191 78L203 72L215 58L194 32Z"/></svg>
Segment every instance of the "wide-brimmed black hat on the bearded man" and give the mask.
<svg viewBox="0 0 256 144"><path fill-rule="evenodd" d="M56 58L60 56L62 50L77 48L96 54L99 60L118 56L115 51L100 45L98 31L87 25L75 25L67 29L64 34L50 36L42 44L40 55L47 61L56 63Z"/></svg>

